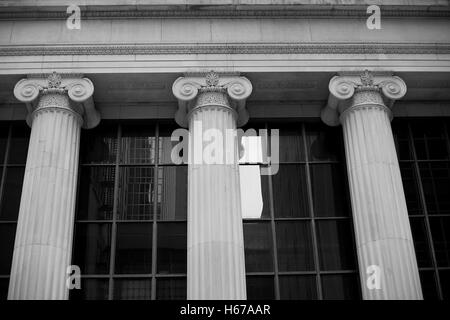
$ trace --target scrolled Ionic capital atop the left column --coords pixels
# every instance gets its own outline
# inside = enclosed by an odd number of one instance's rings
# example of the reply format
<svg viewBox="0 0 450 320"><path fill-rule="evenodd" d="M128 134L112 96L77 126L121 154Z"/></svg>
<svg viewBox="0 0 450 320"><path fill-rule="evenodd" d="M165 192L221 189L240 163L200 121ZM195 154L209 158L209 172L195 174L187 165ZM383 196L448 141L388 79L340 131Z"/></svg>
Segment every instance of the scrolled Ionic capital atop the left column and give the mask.
<svg viewBox="0 0 450 320"><path fill-rule="evenodd" d="M100 122L100 114L95 109L92 94L94 85L91 80L81 74L50 74L29 75L17 82L14 87L14 96L25 103L28 109L27 122L31 126L30 119L38 108L50 107L51 103L42 103L43 96L60 95L69 100L71 110L77 112L83 119L82 127L94 128Z"/></svg>

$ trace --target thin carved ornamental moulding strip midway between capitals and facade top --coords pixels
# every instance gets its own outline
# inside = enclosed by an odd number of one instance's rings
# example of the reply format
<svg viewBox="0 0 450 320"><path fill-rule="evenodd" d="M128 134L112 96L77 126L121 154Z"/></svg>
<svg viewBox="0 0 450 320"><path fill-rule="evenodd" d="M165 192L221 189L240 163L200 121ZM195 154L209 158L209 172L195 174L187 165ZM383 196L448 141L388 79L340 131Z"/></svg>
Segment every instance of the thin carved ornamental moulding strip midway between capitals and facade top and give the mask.
<svg viewBox="0 0 450 320"><path fill-rule="evenodd" d="M164 54L450 54L450 44L142 44L0 46L0 56Z"/></svg>

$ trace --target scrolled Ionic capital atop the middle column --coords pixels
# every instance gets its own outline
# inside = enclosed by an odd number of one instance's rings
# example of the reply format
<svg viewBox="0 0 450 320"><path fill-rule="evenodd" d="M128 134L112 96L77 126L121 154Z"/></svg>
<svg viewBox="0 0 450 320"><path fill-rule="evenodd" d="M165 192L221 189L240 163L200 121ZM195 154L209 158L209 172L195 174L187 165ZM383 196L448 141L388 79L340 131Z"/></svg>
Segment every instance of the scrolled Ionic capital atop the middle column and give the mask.
<svg viewBox="0 0 450 320"><path fill-rule="evenodd" d="M172 85L172 92L178 99L175 121L180 126L187 127L189 113L194 108L217 105L234 109L237 126L242 126L249 118L245 101L252 90L250 80L239 76L239 73L187 73Z"/></svg>

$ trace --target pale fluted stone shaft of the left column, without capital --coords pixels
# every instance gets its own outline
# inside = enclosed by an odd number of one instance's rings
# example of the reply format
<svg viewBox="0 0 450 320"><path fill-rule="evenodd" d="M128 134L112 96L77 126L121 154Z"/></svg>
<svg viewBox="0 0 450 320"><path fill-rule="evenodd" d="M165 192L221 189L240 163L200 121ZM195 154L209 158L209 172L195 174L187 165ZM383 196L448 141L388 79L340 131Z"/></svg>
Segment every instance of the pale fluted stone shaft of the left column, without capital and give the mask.
<svg viewBox="0 0 450 320"><path fill-rule="evenodd" d="M11 269L9 299L66 299L81 117L51 94L34 112Z"/></svg>

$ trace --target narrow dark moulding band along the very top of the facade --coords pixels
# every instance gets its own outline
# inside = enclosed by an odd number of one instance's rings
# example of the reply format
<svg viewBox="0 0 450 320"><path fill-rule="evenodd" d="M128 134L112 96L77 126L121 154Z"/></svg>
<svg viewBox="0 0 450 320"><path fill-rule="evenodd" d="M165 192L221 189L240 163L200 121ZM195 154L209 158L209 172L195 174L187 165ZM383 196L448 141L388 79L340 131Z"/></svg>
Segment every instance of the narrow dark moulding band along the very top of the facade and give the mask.
<svg viewBox="0 0 450 320"><path fill-rule="evenodd" d="M301 8L298 6L285 6L283 9L235 9L235 8L216 8L216 9L167 9L150 10L142 8L133 9L94 9L81 7L81 17L87 19L103 18L322 18L322 17L367 17L367 6L358 6L349 8L348 6L318 6L311 8ZM442 7L389 7L380 6L383 17L449 17L450 8ZM39 10L8 10L4 8L0 12L0 20L17 19L66 19L66 7L60 10L48 10L40 8Z"/></svg>

